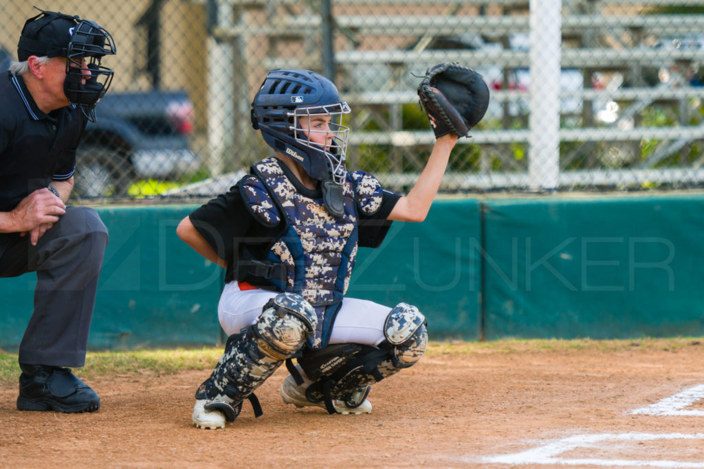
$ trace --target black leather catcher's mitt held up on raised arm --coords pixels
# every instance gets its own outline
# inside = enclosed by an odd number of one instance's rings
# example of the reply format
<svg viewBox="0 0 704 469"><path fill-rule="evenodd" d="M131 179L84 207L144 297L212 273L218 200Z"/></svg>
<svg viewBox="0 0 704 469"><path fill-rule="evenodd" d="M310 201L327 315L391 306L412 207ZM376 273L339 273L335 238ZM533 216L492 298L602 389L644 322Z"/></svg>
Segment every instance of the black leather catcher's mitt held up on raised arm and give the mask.
<svg viewBox="0 0 704 469"><path fill-rule="evenodd" d="M436 137L467 136L486 113L489 88L482 75L456 63L440 63L428 70L418 86Z"/></svg>

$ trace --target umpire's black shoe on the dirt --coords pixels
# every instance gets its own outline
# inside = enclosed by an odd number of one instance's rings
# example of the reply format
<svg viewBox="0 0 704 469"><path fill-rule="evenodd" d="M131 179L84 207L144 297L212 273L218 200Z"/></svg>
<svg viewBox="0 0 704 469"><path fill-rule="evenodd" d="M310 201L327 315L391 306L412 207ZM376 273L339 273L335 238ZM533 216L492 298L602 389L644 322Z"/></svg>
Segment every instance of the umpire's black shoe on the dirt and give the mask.
<svg viewBox="0 0 704 469"><path fill-rule="evenodd" d="M22 366L20 411L93 412L100 408L100 397L89 385L58 366Z"/></svg>

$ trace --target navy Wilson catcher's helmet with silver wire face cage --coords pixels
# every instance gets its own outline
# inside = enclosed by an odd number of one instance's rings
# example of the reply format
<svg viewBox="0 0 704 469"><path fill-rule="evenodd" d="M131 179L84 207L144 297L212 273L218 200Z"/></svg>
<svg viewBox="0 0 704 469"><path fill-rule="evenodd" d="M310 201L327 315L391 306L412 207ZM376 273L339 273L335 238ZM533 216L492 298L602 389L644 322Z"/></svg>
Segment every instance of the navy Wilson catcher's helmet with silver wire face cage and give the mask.
<svg viewBox="0 0 704 469"><path fill-rule="evenodd" d="M311 70L277 69L268 73L252 101L252 127L260 129L272 148L298 162L310 177L343 184L346 177L345 152L349 127L342 115L350 108L335 85ZM327 149L310 141L298 120L313 115L330 115L332 144Z"/></svg>

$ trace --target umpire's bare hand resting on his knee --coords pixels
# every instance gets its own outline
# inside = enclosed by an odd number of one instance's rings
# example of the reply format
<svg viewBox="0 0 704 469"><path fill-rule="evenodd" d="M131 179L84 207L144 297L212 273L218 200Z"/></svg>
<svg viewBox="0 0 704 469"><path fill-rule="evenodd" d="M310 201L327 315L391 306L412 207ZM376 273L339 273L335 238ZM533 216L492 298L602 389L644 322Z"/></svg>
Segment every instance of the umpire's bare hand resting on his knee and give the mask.
<svg viewBox="0 0 704 469"><path fill-rule="evenodd" d="M36 246L39 238L49 231L65 212L66 205L63 200L49 189L41 188L27 195L10 214L15 221L14 231L19 231L22 236L30 233L30 243Z"/></svg>

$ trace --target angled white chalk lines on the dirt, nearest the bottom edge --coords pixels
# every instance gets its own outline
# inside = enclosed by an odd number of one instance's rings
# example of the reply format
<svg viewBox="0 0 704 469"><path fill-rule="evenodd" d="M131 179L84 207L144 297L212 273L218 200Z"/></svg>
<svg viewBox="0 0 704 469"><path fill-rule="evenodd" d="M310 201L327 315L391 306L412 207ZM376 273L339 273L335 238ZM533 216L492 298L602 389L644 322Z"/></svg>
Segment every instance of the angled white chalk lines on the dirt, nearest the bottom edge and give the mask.
<svg viewBox="0 0 704 469"><path fill-rule="evenodd" d="M629 461L620 459L596 459L582 458L569 459L558 458L565 451L577 449L579 447L596 446L597 443L608 440L641 442L658 439L704 439L704 433L684 434L684 433L601 433L593 435L574 435L560 439L556 442L548 443L537 448L522 451L516 454L504 454L501 456L487 456L482 458L484 463L504 463L504 464L561 464L561 465L603 465L603 466L634 466L653 468L704 468L702 462L686 461Z"/></svg>

